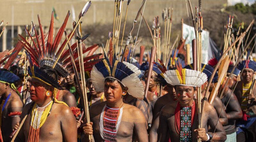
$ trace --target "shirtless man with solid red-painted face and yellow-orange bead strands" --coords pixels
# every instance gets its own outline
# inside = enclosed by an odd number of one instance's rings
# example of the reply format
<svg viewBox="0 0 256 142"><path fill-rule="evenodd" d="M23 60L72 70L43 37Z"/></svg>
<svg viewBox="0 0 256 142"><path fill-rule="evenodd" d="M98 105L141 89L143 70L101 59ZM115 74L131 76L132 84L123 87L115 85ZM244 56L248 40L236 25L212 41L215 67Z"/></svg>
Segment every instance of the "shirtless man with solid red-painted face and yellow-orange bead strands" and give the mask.
<svg viewBox="0 0 256 142"><path fill-rule="evenodd" d="M58 74L55 70L49 67L42 67L40 69L36 69L34 66L34 70L42 72L42 76L47 78L40 78L41 80L33 77L31 79L30 86L30 96L31 100L34 102L26 105L22 111L21 119L24 118L26 113L28 112L31 105L33 105L32 110L29 111L29 114L22 125L18 136L15 141L25 142L30 141L32 138L38 139L39 141L47 141L47 142L74 142L77 140L77 128L76 128L76 118L74 117L70 108L64 104L63 102L57 102L54 96L54 87L58 86ZM42 77L41 76L41 77ZM51 80L51 81L50 81ZM47 82L46 82L47 81ZM61 89L61 88L59 88ZM45 121L41 121L39 128L38 126L33 125L31 121L32 112L40 111L38 107L45 107L45 111L49 110L48 114L42 115L41 120L47 119ZM44 111L44 112L45 112ZM35 113L34 115L36 115ZM35 116L36 117L36 116ZM39 121L39 120L38 120ZM32 126L31 126L32 125ZM35 131L39 131L39 134L30 130L34 129ZM34 139L34 141L36 141ZM32 140L33 141L33 140Z"/></svg>

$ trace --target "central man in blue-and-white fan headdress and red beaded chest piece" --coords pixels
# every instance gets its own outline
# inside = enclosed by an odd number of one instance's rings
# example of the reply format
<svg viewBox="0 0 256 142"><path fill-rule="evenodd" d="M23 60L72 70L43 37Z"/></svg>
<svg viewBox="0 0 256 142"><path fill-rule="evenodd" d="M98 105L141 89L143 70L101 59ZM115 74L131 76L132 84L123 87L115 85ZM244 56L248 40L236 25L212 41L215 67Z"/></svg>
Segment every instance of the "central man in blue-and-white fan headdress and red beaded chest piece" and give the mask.
<svg viewBox="0 0 256 142"><path fill-rule="evenodd" d="M96 91L104 91L107 101L90 108L91 123L83 127L84 141L92 134L97 142L132 141L134 135L138 141L148 141L147 122L142 112L122 99L126 93L139 99L144 95L144 86L129 67L116 60L110 64L108 59L93 66L92 83Z"/></svg>

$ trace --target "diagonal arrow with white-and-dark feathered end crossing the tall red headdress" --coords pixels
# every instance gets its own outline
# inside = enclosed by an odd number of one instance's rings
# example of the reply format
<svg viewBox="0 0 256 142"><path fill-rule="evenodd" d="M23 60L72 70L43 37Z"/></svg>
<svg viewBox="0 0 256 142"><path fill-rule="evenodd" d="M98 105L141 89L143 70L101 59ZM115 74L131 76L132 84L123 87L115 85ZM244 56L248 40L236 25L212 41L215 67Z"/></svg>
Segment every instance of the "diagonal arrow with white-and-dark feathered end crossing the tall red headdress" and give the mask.
<svg viewBox="0 0 256 142"><path fill-rule="evenodd" d="M79 14L79 19L77 21L77 23L80 23L81 19L84 17L84 15L88 12L89 8L91 7L92 3L91 1L90 2L87 2L85 5L84 5L84 8L82 9L82 11L80 12ZM70 35L73 35L75 30L76 30L76 27L78 26L78 24L76 24L76 26L74 27L73 31L70 33ZM58 63L59 59L60 59L60 56L62 55L63 51L65 50L66 46L68 45L68 42L70 41L70 39L72 38L72 36L70 36L67 40L67 42L65 43L64 47L62 48L59 56L57 57L55 63L53 64L52 68L55 67L55 65Z"/></svg>

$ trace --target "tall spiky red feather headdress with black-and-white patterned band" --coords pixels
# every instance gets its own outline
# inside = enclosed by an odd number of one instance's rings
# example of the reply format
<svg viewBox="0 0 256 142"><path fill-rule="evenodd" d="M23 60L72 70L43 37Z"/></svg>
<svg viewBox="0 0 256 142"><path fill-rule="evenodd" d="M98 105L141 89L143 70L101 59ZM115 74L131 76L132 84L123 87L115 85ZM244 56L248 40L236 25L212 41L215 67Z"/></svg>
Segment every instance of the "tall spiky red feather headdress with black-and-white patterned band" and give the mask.
<svg viewBox="0 0 256 142"><path fill-rule="evenodd" d="M69 75L69 73L74 72L69 51L67 50L65 52L62 52L62 54L61 54L61 51L64 48L64 45L66 44L67 40L65 40L60 45L60 48L58 49L61 37L64 33L64 29L68 22L69 15L70 15L70 13L68 11L68 14L67 14L62 26L60 27L58 33L55 36L55 39L53 40L54 13L52 12L52 18L51 18L51 23L50 23L49 32L48 32L48 39L47 39L46 44L44 42L44 36L41 36L41 40L39 40L38 34L36 32L36 28L34 27L34 24L33 24L33 29L35 31L37 43L32 39L32 36L28 32L28 35L30 36L34 46L30 45L24 37L19 35L20 38L22 39L22 41L24 41L24 43L21 42L24 46L24 49L31 56L32 63L36 64L36 66L38 66L38 67L49 66L52 68L54 63L57 62L54 69L59 73L59 75L61 77L67 77ZM41 35L44 35L42 25L41 25L41 20L40 20L39 16L38 16L38 22L39 22ZM26 31L28 31L27 28L25 28L25 29L26 29ZM69 34L68 37L73 36L73 35L74 34L72 34L72 35ZM82 41L84 41L89 35L90 34L86 34L84 37L82 37ZM78 63L78 59L77 59L78 52L76 50L76 47L77 47L77 45L75 43L71 46L71 49L72 49L74 57L76 59L76 63ZM91 47L85 48L85 45L83 44L82 45L83 53L88 52L88 51L92 50L93 48L97 48L97 47L98 47L98 44L95 44ZM96 61L90 61L90 60L97 58L100 55L101 54L97 54L97 55L87 56L84 58L85 71L92 69L92 66L97 63ZM60 59L58 61L56 61L58 56L60 56Z"/></svg>

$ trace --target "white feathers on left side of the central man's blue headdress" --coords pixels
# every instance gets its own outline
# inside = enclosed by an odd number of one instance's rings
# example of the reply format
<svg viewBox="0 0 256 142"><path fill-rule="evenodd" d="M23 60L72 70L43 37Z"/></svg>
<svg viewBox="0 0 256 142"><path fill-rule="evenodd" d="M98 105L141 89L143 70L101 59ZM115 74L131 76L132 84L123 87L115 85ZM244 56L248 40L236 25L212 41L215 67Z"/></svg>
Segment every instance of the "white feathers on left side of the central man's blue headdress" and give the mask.
<svg viewBox="0 0 256 142"><path fill-rule="evenodd" d="M91 71L92 84L96 92L104 92L105 78L95 66L92 67Z"/></svg>

